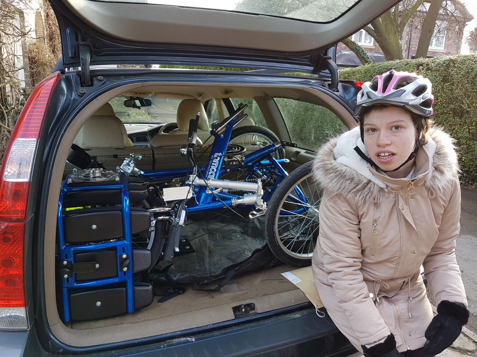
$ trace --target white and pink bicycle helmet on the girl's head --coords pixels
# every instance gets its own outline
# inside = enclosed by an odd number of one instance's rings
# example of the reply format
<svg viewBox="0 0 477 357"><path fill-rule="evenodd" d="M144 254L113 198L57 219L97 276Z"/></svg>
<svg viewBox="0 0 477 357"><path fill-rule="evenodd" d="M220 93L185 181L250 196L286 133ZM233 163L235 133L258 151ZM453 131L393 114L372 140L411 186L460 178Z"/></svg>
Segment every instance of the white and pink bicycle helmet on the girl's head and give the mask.
<svg viewBox="0 0 477 357"><path fill-rule="evenodd" d="M432 84L416 73L396 72L394 69L363 83L356 98L358 114L363 107L376 104L404 107L423 117L434 113Z"/></svg>

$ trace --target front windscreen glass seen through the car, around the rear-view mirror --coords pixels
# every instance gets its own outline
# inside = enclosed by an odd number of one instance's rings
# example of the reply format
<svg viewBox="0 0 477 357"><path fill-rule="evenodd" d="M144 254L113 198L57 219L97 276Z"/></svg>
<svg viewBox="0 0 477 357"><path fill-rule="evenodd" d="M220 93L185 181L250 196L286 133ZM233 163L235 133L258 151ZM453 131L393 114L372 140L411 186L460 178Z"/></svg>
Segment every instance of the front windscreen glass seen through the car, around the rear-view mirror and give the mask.
<svg viewBox="0 0 477 357"><path fill-rule="evenodd" d="M177 107L181 99L148 97L151 100L150 107L126 108L124 100L128 96L117 96L109 101L116 117L123 123L168 123L176 121Z"/></svg>

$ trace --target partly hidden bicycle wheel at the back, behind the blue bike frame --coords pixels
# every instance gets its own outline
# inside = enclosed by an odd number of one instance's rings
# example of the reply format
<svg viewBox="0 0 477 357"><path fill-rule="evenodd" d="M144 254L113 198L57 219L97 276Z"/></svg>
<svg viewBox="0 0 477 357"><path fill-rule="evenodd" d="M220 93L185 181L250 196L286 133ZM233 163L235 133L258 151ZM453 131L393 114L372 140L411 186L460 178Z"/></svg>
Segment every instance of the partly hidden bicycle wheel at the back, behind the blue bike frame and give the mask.
<svg viewBox="0 0 477 357"><path fill-rule="evenodd" d="M243 146L247 150L244 155L247 155L277 141L280 139L269 129L257 125L246 125L232 130L229 143ZM275 159L284 159L285 150L277 149L271 155Z"/></svg>

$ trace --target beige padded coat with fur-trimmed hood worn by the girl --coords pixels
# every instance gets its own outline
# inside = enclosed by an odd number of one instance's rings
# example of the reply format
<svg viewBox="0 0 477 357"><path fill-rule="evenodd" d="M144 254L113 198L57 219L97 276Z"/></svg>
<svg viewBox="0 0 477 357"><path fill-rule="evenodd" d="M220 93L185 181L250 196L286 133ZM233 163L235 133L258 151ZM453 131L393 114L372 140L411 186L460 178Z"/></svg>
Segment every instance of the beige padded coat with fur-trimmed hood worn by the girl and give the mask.
<svg viewBox="0 0 477 357"><path fill-rule="evenodd" d="M353 150L367 154L359 128L322 146L313 163L323 198L312 270L327 312L360 351L390 333L400 352L424 346L432 309L421 265L437 304L467 306L455 255L456 152L443 131L427 137L411 180L389 178L361 159Z"/></svg>

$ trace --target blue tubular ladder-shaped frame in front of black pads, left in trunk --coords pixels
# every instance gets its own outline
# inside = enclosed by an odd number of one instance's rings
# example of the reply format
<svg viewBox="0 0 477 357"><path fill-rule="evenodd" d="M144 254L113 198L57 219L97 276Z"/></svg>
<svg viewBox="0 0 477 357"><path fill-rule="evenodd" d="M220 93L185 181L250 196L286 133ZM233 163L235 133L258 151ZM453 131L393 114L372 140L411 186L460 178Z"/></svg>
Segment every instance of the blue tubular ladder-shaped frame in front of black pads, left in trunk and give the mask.
<svg viewBox="0 0 477 357"><path fill-rule="evenodd" d="M91 280L91 281L81 281L77 282L75 273L72 274L71 278L62 277L62 298L63 298L63 313L64 321L70 321L70 299L68 291L74 288L97 288L114 283L126 283L126 310L131 313L134 312L134 282L133 282L133 252L131 246L131 216L129 210L129 190L128 190L128 180L127 175L122 173L121 179L118 183L109 184L109 185L97 185L97 186L68 186L68 175L61 187L60 199L58 202L58 224L57 224L57 234L59 241L59 250L60 250L60 266L62 261L66 260L74 264L74 253L76 252L91 252L104 250L108 248L116 248L117 253L117 270L118 275L114 278L106 278L100 280ZM114 242L98 243L91 245L65 245L64 239L64 225L63 225L63 198L64 195L68 192L77 192L83 190L94 190L94 189L120 189L121 190L121 216L123 220L123 239L117 240ZM129 257L129 269L123 271L120 267L120 260L123 254L128 255Z"/></svg>

